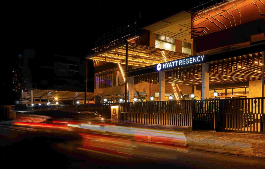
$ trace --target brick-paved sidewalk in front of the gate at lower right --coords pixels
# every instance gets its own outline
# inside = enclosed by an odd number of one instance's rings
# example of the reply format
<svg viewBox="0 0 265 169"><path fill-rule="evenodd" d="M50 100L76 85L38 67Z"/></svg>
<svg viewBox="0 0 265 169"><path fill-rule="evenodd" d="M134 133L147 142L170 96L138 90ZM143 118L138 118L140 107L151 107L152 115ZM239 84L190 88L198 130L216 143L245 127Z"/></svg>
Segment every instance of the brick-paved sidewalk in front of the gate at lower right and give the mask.
<svg viewBox="0 0 265 169"><path fill-rule="evenodd" d="M215 131L185 132L188 148L265 158L265 135Z"/></svg>

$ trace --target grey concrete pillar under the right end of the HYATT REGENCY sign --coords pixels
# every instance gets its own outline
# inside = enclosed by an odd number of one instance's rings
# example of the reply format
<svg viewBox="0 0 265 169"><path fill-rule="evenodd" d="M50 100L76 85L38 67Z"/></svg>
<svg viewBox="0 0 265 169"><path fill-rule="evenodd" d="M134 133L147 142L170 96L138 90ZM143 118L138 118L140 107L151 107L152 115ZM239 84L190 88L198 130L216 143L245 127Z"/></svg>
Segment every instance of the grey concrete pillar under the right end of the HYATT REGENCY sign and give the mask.
<svg viewBox="0 0 265 169"><path fill-rule="evenodd" d="M209 99L209 64L202 64L202 95L201 99Z"/></svg>

